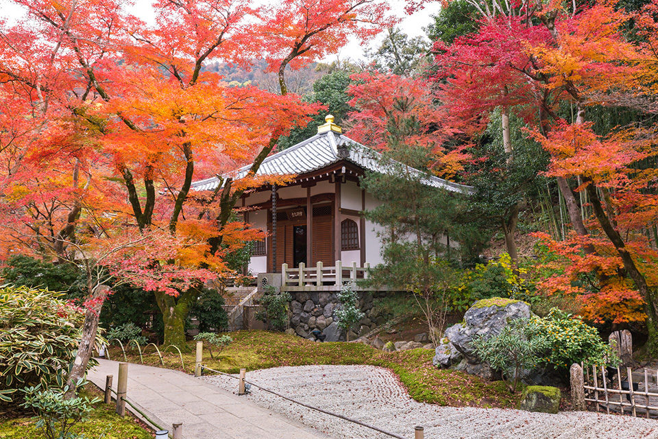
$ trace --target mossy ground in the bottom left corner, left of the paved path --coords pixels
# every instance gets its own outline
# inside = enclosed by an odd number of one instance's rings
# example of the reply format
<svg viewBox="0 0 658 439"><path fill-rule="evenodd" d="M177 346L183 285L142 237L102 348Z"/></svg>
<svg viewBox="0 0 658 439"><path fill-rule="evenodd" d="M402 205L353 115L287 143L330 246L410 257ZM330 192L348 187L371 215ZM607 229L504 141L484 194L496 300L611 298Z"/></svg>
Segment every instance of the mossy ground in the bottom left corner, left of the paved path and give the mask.
<svg viewBox="0 0 658 439"><path fill-rule="evenodd" d="M100 396L93 385L88 385L84 394ZM42 439L41 429L35 427L32 418L0 418L0 439ZM126 415L122 418L114 413L114 404L104 404L102 401L94 405L89 418L71 428L73 434L85 438L103 439L152 439L153 433L142 427L135 418Z"/></svg>

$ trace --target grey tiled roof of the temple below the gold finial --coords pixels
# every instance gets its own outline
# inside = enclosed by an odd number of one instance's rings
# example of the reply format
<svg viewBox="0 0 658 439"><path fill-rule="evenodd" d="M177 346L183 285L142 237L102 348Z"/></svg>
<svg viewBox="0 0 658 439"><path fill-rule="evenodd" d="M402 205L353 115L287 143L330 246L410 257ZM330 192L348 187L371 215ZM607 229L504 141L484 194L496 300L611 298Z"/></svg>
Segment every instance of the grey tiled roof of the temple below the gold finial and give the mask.
<svg viewBox="0 0 658 439"><path fill-rule="evenodd" d="M343 150L344 147L346 151ZM341 150L341 152L339 152ZM349 137L333 131L316 134L310 139L297 143L287 150L277 152L265 158L256 175L292 174L300 175L338 163L341 160L352 162L369 171L387 174L389 169L378 160L380 154ZM226 176L242 178L251 165L236 169ZM416 171L419 172L419 171ZM454 192L470 192L472 187L459 185L443 178L427 176L426 184L443 187ZM192 183L194 191L212 191L219 185L219 178L211 177Z"/></svg>

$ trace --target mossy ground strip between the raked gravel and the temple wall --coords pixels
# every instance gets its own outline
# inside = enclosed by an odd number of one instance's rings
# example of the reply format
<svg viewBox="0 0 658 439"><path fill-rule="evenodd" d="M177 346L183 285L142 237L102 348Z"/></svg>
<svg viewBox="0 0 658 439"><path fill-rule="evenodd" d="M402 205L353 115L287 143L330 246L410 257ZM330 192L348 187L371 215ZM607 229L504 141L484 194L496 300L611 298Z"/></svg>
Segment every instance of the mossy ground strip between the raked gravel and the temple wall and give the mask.
<svg viewBox="0 0 658 439"><path fill-rule="evenodd" d="M233 342L219 357L210 358L204 349L204 364L221 372L237 373L247 370L278 366L306 366L311 364L367 364L389 368L400 377L400 382L413 399L425 403L452 407L516 407L520 393L511 394L502 381L486 381L479 377L454 370L441 370L432 366L434 351L384 352L362 343L316 343L296 335L267 331L239 331L230 334ZM183 353L184 372L193 373L195 342L189 342L188 353ZM153 347L143 354L144 364L160 366ZM123 360L121 348L112 347L112 359ZM127 353L128 361L138 363L135 351ZM162 366L160 366L162 367ZM164 355L164 367L183 370L178 353ZM210 375L210 372L208 372Z"/></svg>

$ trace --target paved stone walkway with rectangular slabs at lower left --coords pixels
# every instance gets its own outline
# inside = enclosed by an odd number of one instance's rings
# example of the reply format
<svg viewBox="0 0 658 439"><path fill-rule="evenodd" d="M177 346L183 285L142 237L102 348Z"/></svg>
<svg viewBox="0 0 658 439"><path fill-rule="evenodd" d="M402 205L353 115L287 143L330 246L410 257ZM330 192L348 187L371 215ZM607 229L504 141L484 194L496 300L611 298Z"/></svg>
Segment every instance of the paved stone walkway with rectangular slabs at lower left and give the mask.
<svg viewBox="0 0 658 439"><path fill-rule="evenodd" d="M103 388L106 375L114 375L112 388L117 390L118 372L118 361L100 359L87 379ZM237 380L232 381L235 387ZM165 429L182 422L185 439L328 439L297 420L178 370L130 364L127 398Z"/></svg>

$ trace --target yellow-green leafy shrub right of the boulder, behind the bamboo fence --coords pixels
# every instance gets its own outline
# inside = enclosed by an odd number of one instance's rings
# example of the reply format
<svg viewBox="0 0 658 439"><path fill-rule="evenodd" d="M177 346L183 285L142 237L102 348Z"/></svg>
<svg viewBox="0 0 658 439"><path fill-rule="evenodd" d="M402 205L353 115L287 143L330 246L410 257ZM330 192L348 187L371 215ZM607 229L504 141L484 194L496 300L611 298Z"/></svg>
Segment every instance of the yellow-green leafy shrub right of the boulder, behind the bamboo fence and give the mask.
<svg viewBox="0 0 658 439"><path fill-rule="evenodd" d="M598 366L619 363L617 354L602 340L596 328L557 308L551 309L545 318L531 317L528 334L544 340L544 350L538 359L541 366L566 373L572 364L581 361Z"/></svg>

